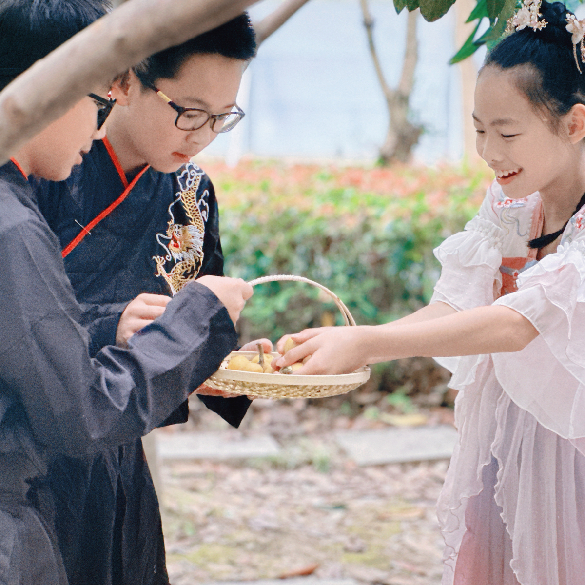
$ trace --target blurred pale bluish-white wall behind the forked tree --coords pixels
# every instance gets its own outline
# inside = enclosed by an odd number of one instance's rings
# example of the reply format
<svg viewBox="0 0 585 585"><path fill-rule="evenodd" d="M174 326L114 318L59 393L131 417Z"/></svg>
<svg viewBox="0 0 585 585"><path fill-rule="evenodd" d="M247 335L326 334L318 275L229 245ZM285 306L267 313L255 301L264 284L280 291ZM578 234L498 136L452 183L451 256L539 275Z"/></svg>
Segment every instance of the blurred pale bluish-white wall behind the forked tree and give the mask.
<svg viewBox="0 0 585 585"><path fill-rule="evenodd" d="M278 5L252 7L260 19ZM371 0L374 35L388 81L400 77L405 13L391 0ZM419 20L419 62L411 99L412 118L425 133L415 150L424 163L459 160L463 153L455 15ZM239 102L246 118L220 135L207 153L235 163L242 154L374 160L388 117L367 49L357 0L310 0L261 47L247 72Z"/></svg>

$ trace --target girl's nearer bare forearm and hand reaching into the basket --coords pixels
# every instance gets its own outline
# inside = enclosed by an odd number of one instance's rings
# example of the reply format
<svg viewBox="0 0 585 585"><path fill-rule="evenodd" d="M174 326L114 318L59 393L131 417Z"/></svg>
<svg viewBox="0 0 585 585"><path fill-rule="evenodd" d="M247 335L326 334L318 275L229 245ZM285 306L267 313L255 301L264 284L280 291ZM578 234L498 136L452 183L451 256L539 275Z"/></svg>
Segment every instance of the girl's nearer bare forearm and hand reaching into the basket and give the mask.
<svg viewBox="0 0 585 585"><path fill-rule="evenodd" d="M431 307L428 314L446 312L443 307L447 305ZM429 315L425 321L405 318L386 325L328 328L315 336L301 332L294 336L301 345L277 364L285 366L312 355L298 373L339 374L402 357L517 352L538 336L528 319L508 307L490 305L460 312L449 309L452 314Z"/></svg>

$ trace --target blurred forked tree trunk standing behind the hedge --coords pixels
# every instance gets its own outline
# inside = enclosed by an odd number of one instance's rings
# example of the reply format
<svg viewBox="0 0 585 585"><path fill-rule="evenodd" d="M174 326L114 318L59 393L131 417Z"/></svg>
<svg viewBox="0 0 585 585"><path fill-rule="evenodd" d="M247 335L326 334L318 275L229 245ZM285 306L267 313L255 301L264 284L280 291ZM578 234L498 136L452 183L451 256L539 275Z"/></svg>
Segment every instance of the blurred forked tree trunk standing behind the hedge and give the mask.
<svg viewBox="0 0 585 585"><path fill-rule="evenodd" d="M366 27L371 59L376 70L378 82L386 99L388 109L388 131L386 140L380 148L380 161L390 164L394 161L407 162L411 157L412 147L417 144L422 132L421 126L416 126L408 121L408 102L414 85L414 72L418 61L417 43L417 17L418 12L409 12L407 20L407 38L402 61L402 73L398 87L390 88L380 65L380 59L374 43L374 20L371 17L367 0L360 0Z"/></svg>

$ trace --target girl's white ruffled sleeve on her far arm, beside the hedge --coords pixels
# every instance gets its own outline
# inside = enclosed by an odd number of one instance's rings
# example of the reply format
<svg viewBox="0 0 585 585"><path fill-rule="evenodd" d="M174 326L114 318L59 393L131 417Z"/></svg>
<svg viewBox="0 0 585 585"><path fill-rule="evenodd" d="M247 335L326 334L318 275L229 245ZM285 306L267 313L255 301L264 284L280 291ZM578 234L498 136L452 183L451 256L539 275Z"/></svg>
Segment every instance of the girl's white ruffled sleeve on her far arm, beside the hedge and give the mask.
<svg viewBox="0 0 585 585"><path fill-rule="evenodd" d="M445 302L457 311L494 302L494 287L501 287L504 242L504 230L497 221L488 191L479 214L467 222L463 232L434 250L442 270L431 302Z"/></svg>

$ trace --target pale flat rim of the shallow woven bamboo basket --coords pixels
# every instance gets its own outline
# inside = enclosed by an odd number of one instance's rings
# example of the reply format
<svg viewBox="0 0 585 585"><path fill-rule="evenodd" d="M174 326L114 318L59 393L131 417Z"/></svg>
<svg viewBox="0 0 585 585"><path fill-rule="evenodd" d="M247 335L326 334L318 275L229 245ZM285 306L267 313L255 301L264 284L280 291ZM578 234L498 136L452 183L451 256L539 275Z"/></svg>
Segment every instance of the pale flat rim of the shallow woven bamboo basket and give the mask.
<svg viewBox="0 0 585 585"><path fill-rule="evenodd" d="M227 364L233 356L254 357L258 352L231 352L223 359L222 365L210 379L233 380L237 382L253 382L256 384L278 384L279 386L340 386L343 384L364 383L370 378L370 368L361 367L350 374L328 374L327 376L297 376L296 374L264 374L254 371L228 370ZM282 357L280 353L271 352L273 357ZM276 377L276 379L275 379Z"/></svg>

